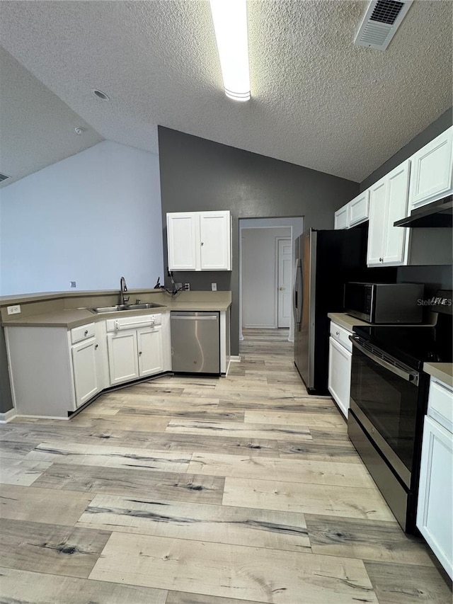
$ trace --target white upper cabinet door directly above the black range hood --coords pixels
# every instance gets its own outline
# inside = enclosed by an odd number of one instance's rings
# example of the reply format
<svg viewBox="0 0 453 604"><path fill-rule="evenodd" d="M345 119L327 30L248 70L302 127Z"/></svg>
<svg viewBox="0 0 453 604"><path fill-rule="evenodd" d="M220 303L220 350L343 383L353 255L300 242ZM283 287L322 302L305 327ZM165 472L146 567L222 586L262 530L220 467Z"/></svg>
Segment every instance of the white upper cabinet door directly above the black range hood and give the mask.
<svg viewBox="0 0 453 604"><path fill-rule="evenodd" d="M411 157L411 210L452 190L452 134L453 127L450 127Z"/></svg>

